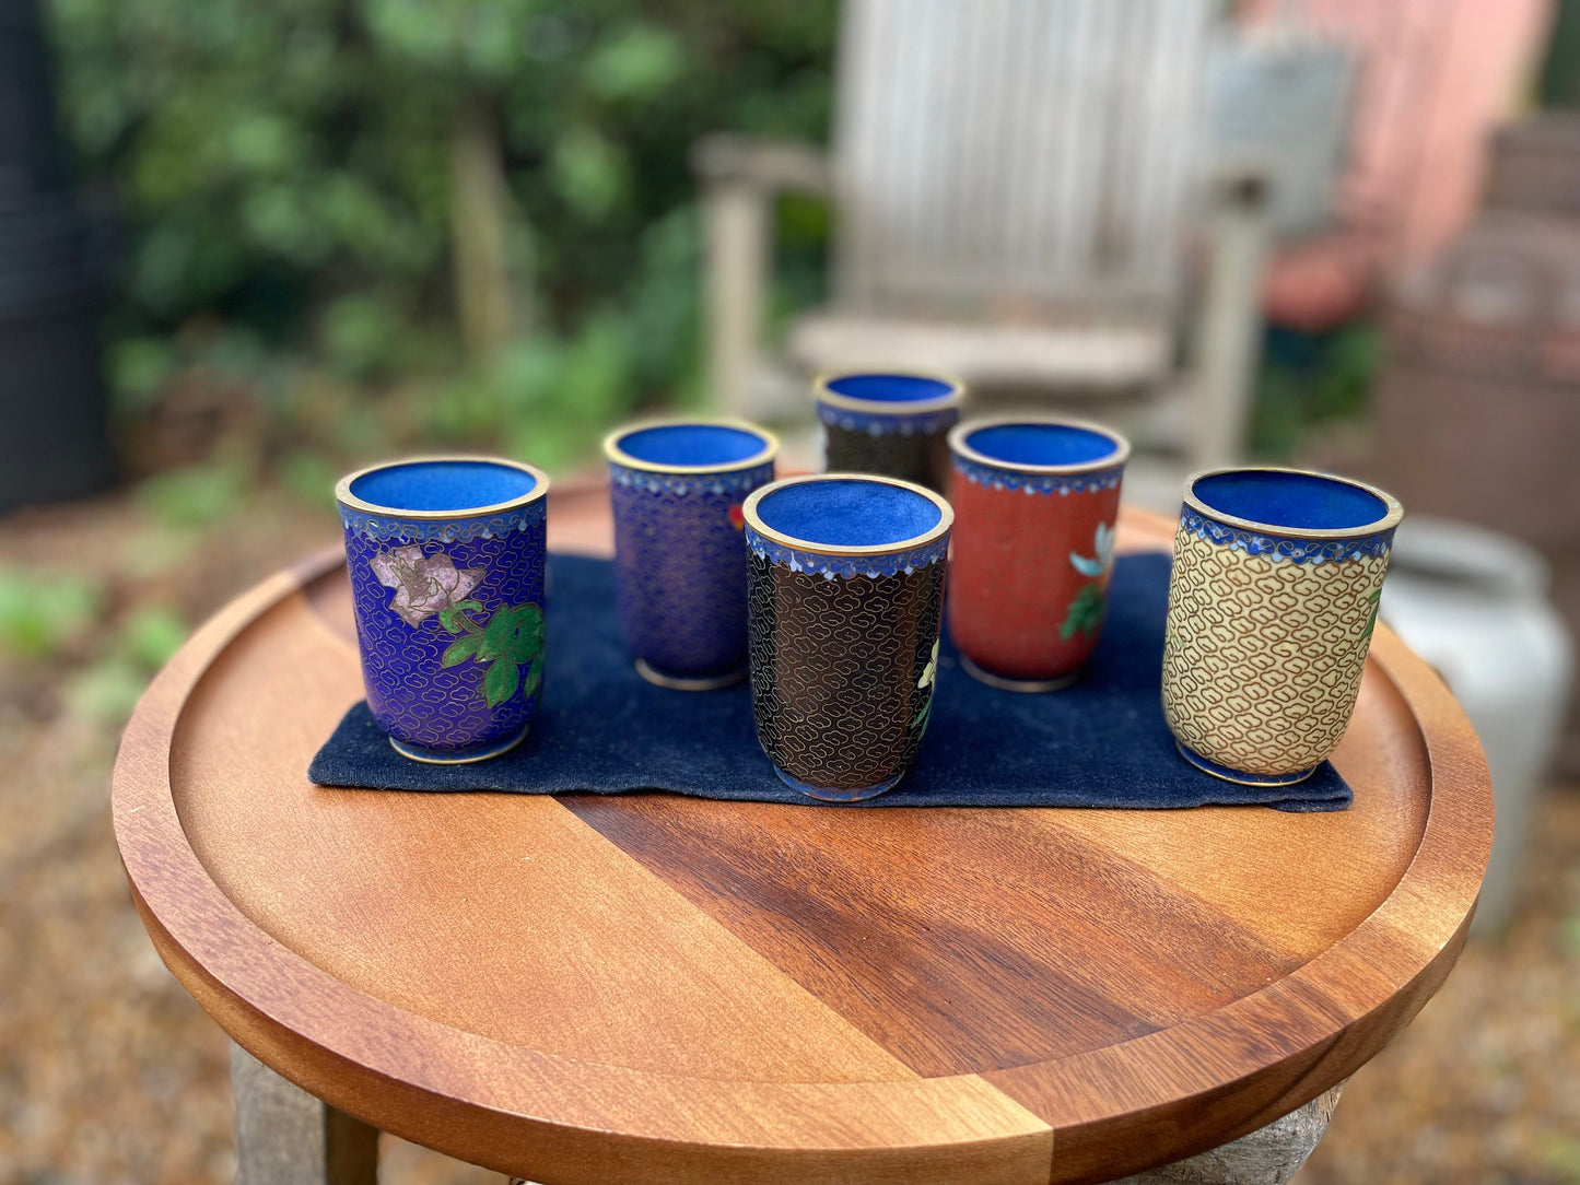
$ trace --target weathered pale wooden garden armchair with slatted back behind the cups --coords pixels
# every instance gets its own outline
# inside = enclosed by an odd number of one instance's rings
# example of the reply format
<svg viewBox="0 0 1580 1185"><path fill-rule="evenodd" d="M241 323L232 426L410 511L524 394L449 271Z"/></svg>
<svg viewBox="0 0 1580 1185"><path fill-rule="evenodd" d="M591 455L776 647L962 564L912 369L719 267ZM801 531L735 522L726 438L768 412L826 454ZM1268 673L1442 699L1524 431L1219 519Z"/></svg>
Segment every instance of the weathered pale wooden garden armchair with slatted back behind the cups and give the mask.
<svg viewBox="0 0 1580 1185"><path fill-rule="evenodd" d="M828 156L738 136L694 152L714 398L787 419L809 408L807 373L872 365L1022 397L1172 393L1164 442L1232 458L1266 232L1262 186L1206 177L1198 147L1217 9L847 0ZM790 191L831 199L836 246L831 303L787 333L801 371L787 379L762 337L773 205ZM1187 325L1185 240L1204 191L1209 265Z"/></svg>

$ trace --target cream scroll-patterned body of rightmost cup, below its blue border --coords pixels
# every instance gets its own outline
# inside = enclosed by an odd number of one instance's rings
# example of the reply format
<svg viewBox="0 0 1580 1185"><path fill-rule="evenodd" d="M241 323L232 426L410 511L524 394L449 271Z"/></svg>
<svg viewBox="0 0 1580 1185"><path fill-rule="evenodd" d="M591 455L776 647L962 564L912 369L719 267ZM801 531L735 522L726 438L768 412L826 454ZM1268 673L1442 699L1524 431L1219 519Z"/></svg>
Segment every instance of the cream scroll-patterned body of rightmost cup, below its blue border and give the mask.
<svg viewBox="0 0 1580 1185"><path fill-rule="evenodd" d="M1326 760L1356 706L1387 561L1280 562L1182 528L1163 643L1174 735L1250 774Z"/></svg>

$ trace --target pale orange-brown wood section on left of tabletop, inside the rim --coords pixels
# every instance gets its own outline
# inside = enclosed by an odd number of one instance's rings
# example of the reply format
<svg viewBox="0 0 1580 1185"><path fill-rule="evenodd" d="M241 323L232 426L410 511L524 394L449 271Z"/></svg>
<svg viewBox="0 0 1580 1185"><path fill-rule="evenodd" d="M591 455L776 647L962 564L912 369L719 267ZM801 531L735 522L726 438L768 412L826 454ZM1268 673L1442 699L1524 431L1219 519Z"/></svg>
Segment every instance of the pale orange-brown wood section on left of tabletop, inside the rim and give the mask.
<svg viewBox="0 0 1580 1185"><path fill-rule="evenodd" d="M314 621L289 597L269 629L237 638L193 692L171 757L193 853L275 942L370 997L578 1060L912 1076L553 798L434 803L308 782L300 754L362 695L348 643ZM300 670L321 675L302 684ZM602 957L608 945L627 957ZM776 1027L771 1062L739 1043Z"/></svg>

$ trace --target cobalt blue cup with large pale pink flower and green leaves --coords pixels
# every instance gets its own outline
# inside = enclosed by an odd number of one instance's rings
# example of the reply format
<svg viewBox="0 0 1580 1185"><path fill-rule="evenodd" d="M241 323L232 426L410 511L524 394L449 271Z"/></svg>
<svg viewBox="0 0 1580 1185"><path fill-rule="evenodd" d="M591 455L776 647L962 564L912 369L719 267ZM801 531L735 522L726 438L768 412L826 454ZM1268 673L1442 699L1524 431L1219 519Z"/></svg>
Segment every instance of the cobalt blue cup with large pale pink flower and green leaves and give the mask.
<svg viewBox="0 0 1580 1185"><path fill-rule="evenodd" d="M422 457L335 487L368 708L397 752L460 763L520 744L544 683L548 477Z"/></svg>

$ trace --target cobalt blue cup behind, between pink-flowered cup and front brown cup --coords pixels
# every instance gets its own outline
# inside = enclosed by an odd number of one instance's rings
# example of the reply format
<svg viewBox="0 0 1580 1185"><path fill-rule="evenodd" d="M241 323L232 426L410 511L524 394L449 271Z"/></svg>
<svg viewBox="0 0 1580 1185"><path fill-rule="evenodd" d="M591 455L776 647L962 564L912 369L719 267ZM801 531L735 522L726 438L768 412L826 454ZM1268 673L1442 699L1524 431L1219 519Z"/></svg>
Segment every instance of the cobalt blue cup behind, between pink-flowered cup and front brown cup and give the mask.
<svg viewBox="0 0 1580 1185"><path fill-rule="evenodd" d="M709 690L747 673L741 504L779 441L750 423L665 420L604 441L619 624L648 683Z"/></svg>

